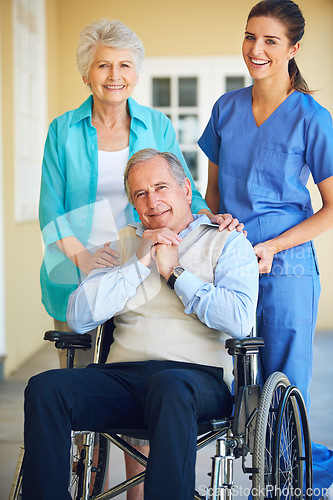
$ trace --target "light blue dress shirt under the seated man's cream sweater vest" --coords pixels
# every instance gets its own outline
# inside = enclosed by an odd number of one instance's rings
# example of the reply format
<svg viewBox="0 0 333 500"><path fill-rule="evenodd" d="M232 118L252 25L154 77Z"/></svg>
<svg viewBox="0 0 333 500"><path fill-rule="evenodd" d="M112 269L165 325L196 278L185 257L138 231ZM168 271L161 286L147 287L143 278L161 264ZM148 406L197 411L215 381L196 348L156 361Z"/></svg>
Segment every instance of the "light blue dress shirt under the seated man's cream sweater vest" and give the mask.
<svg viewBox="0 0 333 500"><path fill-rule="evenodd" d="M193 217L194 221L179 233L181 238L201 224L213 226L206 215ZM136 234L142 236L144 226L139 223L136 227ZM92 271L69 298L69 326L85 333L104 323L122 311L150 272L136 255L123 266ZM196 314L209 328L233 337L248 335L258 295L258 264L252 245L242 233L231 232L217 261L214 283L204 283L185 270L176 280L175 292L185 313Z"/></svg>

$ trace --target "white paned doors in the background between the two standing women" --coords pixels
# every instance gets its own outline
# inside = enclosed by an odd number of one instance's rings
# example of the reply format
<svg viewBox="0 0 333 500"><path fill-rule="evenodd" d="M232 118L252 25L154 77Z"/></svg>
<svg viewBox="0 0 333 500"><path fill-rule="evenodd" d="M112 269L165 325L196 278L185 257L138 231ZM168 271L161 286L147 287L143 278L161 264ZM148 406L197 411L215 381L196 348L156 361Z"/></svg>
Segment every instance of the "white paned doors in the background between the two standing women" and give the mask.
<svg viewBox="0 0 333 500"><path fill-rule="evenodd" d="M151 57L135 89L140 104L165 113L176 130L186 163L202 194L207 158L197 146L216 99L251 84L241 57Z"/></svg>

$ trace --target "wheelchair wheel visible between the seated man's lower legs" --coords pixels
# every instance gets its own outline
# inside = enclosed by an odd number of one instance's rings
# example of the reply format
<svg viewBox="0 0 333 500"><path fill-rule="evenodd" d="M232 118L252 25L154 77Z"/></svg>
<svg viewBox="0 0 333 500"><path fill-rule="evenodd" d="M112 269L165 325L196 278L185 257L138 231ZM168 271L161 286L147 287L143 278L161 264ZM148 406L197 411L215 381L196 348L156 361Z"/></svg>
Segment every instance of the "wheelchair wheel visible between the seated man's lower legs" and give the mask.
<svg viewBox="0 0 333 500"><path fill-rule="evenodd" d="M109 461L109 441L99 433L95 433L93 457L89 487L89 497L104 491ZM84 490L85 459L88 449L82 444L82 436L72 438L70 493L73 500L81 500Z"/></svg>

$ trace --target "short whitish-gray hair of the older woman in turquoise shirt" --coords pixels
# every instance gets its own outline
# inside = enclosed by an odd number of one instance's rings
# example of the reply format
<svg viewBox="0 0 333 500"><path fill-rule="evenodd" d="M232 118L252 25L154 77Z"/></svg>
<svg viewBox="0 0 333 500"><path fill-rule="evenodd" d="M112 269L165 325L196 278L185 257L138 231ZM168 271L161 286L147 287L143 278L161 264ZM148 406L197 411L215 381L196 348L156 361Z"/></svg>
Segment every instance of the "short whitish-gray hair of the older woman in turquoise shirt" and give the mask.
<svg viewBox="0 0 333 500"><path fill-rule="evenodd" d="M83 28L76 51L77 67L81 75L88 76L97 46L118 50L131 50L139 74L143 67L145 49L140 38L128 26L115 19L99 19Z"/></svg>

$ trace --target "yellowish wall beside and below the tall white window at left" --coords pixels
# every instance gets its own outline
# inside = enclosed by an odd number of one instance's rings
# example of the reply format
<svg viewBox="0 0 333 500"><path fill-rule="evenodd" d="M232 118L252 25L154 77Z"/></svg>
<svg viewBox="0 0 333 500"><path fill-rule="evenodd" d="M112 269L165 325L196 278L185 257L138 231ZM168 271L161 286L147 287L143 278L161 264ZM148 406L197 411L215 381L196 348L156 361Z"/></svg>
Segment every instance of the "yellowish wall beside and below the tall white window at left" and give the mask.
<svg viewBox="0 0 333 500"><path fill-rule="evenodd" d="M42 344L51 321L40 303L41 238L36 222L14 220L14 117L12 2L1 0L3 206L5 240L5 375Z"/></svg>

